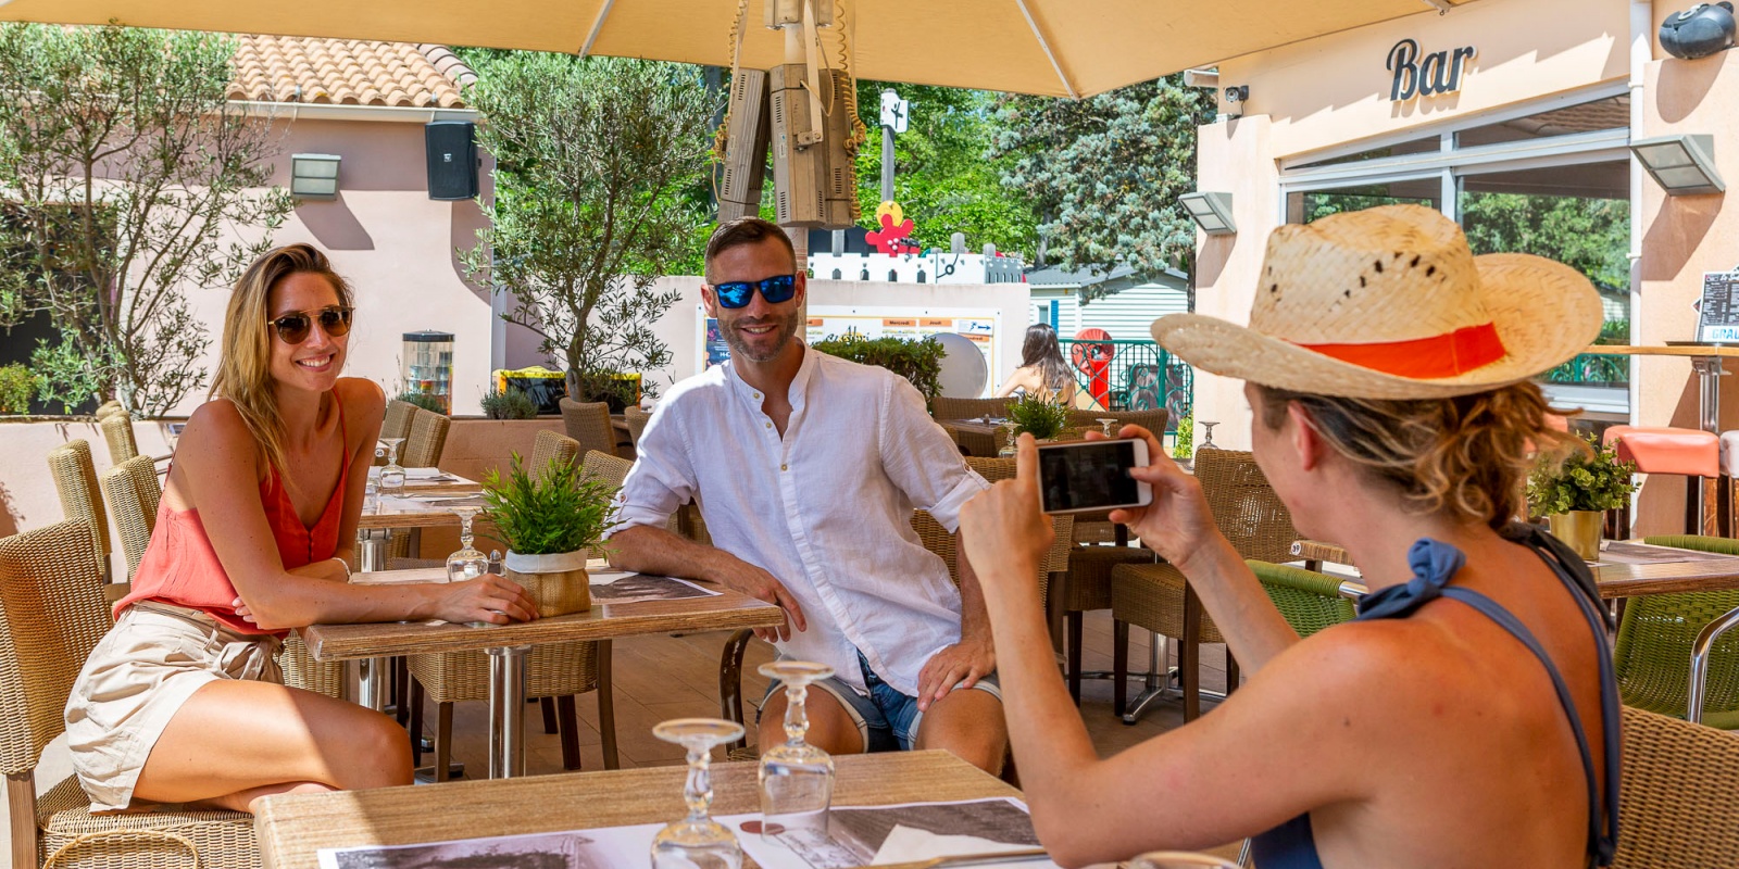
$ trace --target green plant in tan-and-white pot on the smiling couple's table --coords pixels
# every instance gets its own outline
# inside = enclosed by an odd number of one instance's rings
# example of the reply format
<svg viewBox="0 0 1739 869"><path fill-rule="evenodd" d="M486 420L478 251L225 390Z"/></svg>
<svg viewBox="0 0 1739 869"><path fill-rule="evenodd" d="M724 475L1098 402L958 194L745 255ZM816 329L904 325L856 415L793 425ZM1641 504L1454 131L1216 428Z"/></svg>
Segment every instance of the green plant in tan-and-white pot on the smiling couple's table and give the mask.
<svg viewBox="0 0 1739 869"><path fill-rule="evenodd" d="M527 473L513 454L508 478L489 471L483 502L508 544L508 579L525 586L539 617L591 608L586 558L614 516L617 487L581 480L572 462Z"/></svg>

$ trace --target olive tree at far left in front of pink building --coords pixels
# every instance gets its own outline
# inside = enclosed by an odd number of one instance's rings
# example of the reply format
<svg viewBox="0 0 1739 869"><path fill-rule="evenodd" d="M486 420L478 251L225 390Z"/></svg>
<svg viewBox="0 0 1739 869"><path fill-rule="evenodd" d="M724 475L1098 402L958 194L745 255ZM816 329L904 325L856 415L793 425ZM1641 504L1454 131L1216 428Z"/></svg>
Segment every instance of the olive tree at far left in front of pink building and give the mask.
<svg viewBox="0 0 1739 869"><path fill-rule="evenodd" d="M162 415L205 384L186 292L233 283L290 212L277 137L226 101L235 43L0 26L0 327L49 316L42 400ZM268 229L252 243L233 228Z"/></svg>

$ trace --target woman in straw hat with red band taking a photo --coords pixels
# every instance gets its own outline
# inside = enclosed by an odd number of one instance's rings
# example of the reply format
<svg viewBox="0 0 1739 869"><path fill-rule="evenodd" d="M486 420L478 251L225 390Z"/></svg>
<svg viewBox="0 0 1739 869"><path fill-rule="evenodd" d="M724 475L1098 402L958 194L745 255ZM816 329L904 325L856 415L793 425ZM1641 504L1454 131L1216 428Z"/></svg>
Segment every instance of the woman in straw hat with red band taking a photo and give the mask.
<svg viewBox="0 0 1739 869"><path fill-rule="evenodd" d="M1111 518L1174 563L1249 674L1212 714L1099 760L1056 664L1035 565L1036 454L976 497L1009 733L1038 836L1063 864L1254 836L1261 869L1607 866L1617 690L1586 567L1515 525L1530 445L1565 443L1529 377L1600 330L1588 280L1475 257L1414 205L1283 226L1250 325L1153 323L1198 368L1245 381L1256 459L1299 534L1346 546L1370 594L1308 640L1158 457L1153 504Z"/></svg>

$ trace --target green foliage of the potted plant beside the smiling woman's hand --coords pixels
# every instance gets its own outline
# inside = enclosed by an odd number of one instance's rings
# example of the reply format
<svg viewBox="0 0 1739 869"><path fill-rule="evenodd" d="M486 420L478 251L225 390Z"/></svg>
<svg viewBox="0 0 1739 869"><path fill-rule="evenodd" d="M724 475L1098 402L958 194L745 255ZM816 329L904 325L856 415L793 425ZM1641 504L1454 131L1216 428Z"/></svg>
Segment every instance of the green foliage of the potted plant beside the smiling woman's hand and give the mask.
<svg viewBox="0 0 1739 869"><path fill-rule="evenodd" d="M520 554L591 547L610 527L616 492L603 480L581 480L574 462L550 462L534 480L516 452L506 480L496 469L483 476L487 514L508 549Z"/></svg>

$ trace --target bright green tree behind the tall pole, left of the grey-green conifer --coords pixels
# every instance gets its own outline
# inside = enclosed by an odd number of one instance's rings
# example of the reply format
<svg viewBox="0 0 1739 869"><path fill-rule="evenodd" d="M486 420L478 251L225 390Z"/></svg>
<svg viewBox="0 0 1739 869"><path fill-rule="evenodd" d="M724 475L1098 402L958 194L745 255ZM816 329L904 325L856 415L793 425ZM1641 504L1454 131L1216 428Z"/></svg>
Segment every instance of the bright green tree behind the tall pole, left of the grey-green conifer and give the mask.
<svg viewBox="0 0 1739 869"><path fill-rule="evenodd" d="M958 87L857 82L857 115L870 139L857 151L857 202L864 226L882 203L882 90L911 104L909 129L894 136L894 200L929 247L946 247L965 233L974 250L1031 250L1038 219L1017 189L1002 186L1012 156L991 158L996 94Z"/></svg>

